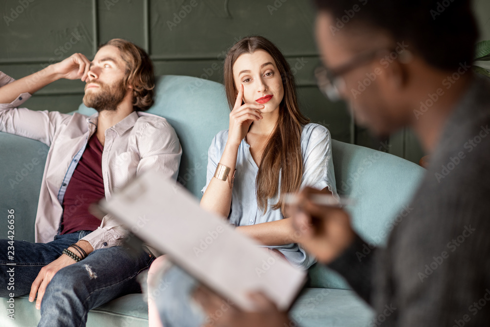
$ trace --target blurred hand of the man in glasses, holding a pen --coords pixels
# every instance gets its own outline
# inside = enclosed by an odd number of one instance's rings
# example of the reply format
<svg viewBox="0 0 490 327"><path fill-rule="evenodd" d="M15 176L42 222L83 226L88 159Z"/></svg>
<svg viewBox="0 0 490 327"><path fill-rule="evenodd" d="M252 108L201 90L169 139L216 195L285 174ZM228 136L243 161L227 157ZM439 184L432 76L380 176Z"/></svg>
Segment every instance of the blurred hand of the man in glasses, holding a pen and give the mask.
<svg viewBox="0 0 490 327"><path fill-rule="evenodd" d="M293 208L293 226L300 233L298 243L319 262L330 263L347 249L355 238L349 215L340 207L315 204L311 200L321 191L306 187Z"/></svg>

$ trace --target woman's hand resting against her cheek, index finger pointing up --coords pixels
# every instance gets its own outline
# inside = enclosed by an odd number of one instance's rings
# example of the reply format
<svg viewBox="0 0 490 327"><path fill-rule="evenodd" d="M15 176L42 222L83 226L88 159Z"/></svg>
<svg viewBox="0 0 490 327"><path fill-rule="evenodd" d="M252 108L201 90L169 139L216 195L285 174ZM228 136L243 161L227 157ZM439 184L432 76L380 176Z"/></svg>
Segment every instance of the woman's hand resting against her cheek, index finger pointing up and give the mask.
<svg viewBox="0 0 490 327"><path fill-rule="evenodd" d="M253 121L262 119L260 109L264 108L263 104L245 103L242 104L244 97L244 86L240 83L237 101L230 113L230 126L228 130L228 142L232 145L239 146L245 138L248 128Z"/></svg>

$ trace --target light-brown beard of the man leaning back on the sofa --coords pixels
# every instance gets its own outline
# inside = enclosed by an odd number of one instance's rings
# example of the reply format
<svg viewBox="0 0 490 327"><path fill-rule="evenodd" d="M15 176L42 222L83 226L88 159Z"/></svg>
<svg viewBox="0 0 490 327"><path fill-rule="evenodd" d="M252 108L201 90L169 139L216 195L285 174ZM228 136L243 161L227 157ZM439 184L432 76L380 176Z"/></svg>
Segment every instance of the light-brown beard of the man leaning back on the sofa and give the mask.
<svg viewBox="0 0 490 327"><path fill-rule="evenodd" d="M88 83L97 84L99 90L94 89L89 92L85 91L83 104L89 108L94 108L98 112L101 112L102 110L116 111L118 105L123 102L124 96L126 95L123 79L120 79L111 85L99 81Z"/></svg>

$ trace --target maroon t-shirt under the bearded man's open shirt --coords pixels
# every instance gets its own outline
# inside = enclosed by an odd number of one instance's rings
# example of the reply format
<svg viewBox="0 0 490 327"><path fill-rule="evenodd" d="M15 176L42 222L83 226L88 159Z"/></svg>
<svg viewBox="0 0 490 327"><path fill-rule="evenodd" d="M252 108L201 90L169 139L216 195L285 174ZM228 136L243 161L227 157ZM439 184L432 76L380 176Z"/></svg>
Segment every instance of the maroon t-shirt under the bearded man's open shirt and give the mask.
<svg viewBox="0 0 490 327"><path fill-rule="evenodd" d="M77 230L96 230L100 226L100 220L88 211L88 207L105 198L102 150L104 146L94 133L76 165L63 197L61 234Z"/></svg>

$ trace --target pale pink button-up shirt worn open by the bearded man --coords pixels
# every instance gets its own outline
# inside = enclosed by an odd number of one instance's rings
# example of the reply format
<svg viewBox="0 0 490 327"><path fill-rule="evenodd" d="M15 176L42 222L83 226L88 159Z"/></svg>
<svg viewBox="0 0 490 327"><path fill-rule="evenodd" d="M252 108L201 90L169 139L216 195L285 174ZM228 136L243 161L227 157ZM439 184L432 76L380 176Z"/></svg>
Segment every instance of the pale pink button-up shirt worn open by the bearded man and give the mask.
<svg viewBox="0 0 490 327"><path fill-rule="evenodd" d="M14 79L0 72L0 87ZM36 242L47 243L58 232L63 214L63 196L87 141L96 131L98 113L87 117L57 111L33 111L19 106L30 98L19 95L0 104L0 131L28 137L49 146L37 207ZM102 175L105 198L147 169L176 179L182 149L175 130L165 118L133 111L105 131ZM82 240L94 250L121 245L126 228L111 215Z"/></svg>

